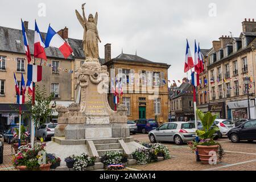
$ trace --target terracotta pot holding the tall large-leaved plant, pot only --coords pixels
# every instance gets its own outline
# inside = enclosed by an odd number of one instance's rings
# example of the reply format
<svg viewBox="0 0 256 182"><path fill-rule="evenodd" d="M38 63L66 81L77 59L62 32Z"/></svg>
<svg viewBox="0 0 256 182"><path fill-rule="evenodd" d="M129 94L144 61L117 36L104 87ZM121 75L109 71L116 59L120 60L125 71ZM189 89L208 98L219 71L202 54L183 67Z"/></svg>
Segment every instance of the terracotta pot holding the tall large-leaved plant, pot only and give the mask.
<svg viewBox="0 0 256 182"><path fill-rule="evenodd" d="M196 146L196 149L199 153L200 160L202 164L209 164L209 159L212 155L209 155L210 151L214 151L217 153L218 146Z"/></svg>

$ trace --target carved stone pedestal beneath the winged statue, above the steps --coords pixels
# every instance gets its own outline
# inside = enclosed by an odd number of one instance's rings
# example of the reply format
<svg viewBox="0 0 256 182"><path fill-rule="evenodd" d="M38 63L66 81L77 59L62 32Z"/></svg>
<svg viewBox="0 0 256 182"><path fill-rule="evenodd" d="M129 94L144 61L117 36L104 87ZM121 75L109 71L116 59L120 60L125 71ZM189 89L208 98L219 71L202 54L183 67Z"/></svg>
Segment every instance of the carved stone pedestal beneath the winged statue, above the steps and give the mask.
<svg viewBox="0 0 256 182"><path fill-rule="evenodd" d="M127 108L118 105L113 111L108 104L109 73L98 60L88 59L76 73L76 89L80 101L69 107L58 107L56 137L73 139L104 139L130 137Z"/></svg>

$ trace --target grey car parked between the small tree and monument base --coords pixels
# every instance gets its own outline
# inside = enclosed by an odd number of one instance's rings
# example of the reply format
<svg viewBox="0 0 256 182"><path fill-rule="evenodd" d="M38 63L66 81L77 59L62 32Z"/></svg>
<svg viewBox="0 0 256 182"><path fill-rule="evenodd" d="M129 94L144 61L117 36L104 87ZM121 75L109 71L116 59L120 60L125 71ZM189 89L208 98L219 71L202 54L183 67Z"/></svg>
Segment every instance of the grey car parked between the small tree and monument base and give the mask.
<svg viewBox="0 0 256 182"><path fill-rule="evenodd" d="M37 138L43 138L44 141L51 139L55 134L57 123L44 123L38 127L36 132Z"/></svg>

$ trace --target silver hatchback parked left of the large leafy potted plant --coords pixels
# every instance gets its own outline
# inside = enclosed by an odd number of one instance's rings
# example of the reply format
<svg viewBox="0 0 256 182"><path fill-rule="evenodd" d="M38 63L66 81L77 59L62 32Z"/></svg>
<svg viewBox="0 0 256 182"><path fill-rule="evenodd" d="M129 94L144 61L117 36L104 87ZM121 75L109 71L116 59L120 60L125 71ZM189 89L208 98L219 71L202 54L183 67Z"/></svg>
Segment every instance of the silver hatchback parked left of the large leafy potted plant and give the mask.
<svg viewBox="0 0 256 182"><path fill-rule="evenodd" d="M183 144L183 142L192 141L196 138L195 122L169 122L159 126L156 130L148 133L150 142L158 141L174 142Z"/></svg>

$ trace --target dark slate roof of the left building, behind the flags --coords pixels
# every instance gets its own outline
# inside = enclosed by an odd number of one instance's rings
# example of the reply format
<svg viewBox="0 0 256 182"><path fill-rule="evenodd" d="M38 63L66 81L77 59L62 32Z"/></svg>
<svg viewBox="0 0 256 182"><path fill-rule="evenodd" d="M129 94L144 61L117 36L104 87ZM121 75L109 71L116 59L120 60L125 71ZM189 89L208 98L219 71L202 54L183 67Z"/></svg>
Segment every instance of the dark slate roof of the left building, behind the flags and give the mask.
<svg viewBox="0 0 256 182"><path fill-rule="evenodd" d="M27 39L30 46L30 53L34 55L34 30L27 30ZM46 37L45 32L41 32L43 39ZM16 40L18 40L17 43ZM82 50L82 40L68 38L68 43L73 49L75 56L69 56L68 59L74 60L76 58L85 59L84 51ZM7 28L0 26L0 51L25 53L23 46L22 30L15 28ZM52 58L64 59L64 56L57 48L48 47L46 56Z"/></svg>

